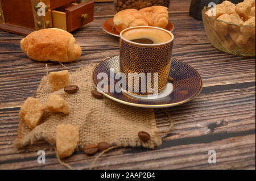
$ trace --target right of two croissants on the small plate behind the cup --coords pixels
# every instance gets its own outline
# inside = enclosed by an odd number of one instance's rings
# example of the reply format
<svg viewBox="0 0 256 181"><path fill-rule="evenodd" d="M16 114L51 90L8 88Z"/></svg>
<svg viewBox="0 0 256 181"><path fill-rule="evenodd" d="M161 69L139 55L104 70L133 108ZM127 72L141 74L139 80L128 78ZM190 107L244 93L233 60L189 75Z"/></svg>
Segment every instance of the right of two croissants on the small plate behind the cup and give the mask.
<svg viewBox="0 0 256 181"><path fill-rule="evenodd" d="M145 7L141 10L149 26L165 28L168 24L168 10L164 6Z"/></svg>

